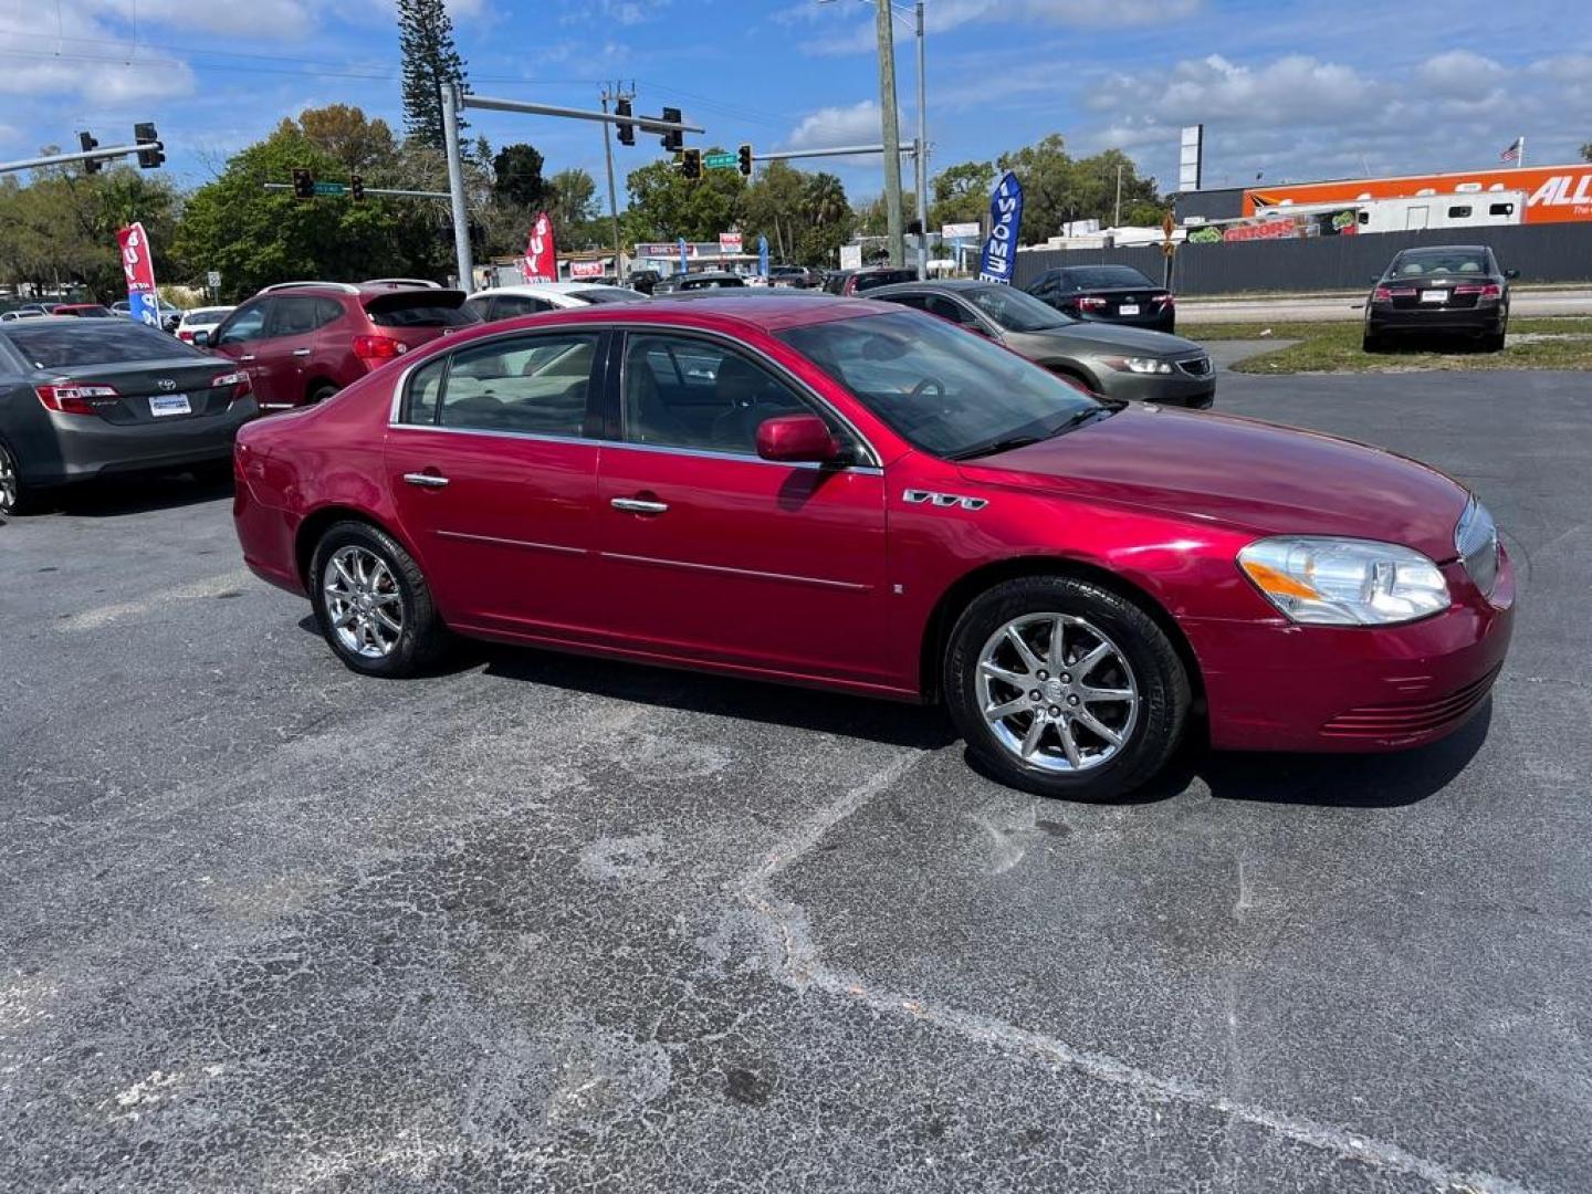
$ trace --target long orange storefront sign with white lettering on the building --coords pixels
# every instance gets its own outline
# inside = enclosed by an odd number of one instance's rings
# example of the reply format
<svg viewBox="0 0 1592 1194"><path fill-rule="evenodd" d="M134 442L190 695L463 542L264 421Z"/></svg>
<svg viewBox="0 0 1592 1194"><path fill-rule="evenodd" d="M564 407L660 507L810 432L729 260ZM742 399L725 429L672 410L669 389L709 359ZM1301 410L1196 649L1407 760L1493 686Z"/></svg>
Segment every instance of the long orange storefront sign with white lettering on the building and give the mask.
<svg viewBox="0 0 1592 1194"><path fill-rule="evenodd" d="M1302 204L1352 204L1364 199L1418 199L1466 193L1525 191L1524 223L1554 224L1592 220L1592 164L1532 166L1524 170L1473 170L1469 174L1420 174L1406 178L1340 178L1331 183L1256 186L1243 193L1243 213L1275 209L1285 199Z"/></svg>

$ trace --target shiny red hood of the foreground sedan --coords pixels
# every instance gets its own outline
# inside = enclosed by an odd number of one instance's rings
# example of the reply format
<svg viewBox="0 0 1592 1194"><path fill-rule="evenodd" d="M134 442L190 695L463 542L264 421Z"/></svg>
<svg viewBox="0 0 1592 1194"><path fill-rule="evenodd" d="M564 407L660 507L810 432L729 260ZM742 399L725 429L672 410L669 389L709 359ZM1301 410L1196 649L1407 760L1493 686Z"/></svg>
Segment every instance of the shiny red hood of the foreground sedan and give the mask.
<svg viewBox="0 0 1592 1194"><path fill-rule="evenodd" d="M1208 412L1127 406L1110 419L962 465L974 481L1212 519L1256 535L1344 535L1455 556L1469 494L1366 444Z"/></svg>

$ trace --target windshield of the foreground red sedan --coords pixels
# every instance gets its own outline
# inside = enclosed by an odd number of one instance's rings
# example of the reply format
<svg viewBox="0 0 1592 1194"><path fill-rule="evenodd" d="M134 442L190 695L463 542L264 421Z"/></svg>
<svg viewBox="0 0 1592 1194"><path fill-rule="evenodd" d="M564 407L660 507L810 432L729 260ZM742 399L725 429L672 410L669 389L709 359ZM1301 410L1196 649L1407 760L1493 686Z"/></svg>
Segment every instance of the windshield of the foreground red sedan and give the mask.
<svg viewBox="0 0 1592 1194"><path fill-rule="evenodd" d="M939 457L1016 447L1108 411L1038 365L915 310L810 323L778 338Z"/></svg>

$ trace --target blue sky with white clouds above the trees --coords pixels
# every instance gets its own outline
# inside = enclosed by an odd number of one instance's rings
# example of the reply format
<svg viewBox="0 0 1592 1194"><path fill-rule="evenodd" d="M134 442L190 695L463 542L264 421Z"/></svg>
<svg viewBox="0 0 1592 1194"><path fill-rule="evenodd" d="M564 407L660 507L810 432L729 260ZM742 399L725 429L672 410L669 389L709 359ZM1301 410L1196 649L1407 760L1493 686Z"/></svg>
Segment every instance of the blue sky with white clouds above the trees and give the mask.
<svg viewBox="0 0 1592 1194"><path fill-rule="evenodd" d="M898 0L906 8L906 0ZM759 150L879 139L872 3L861 0L454 0L482 94L597 107L635 81L700 143ZM1205 185L1533 164L1592 140L1584 0L927 0L931 164L990 159L1049 132L1119 146L1164 189L1176 129L1207 126ZM898 89L915 119L911 19ZM349 102L398 127L392 0L0 0L0 159L102 143L154 119L185 185L285 115ZM494 145L602 180L594 124L473 113ZM640 137L618 169L661 150ZM877 161L834 159L853 197Z"/></svg>

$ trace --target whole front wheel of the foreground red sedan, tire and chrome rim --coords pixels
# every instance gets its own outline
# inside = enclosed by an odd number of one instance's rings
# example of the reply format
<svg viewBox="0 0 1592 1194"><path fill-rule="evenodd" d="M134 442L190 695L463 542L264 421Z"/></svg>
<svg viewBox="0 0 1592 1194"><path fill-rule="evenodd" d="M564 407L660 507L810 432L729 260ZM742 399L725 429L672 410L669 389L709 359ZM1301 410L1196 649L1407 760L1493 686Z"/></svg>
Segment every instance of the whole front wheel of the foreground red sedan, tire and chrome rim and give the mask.
<svg viewBox="0 0 1592 1194"><path fill-rule="evenodd" d="M997 778L1067 799L1143 786L1176 748L1191 704L1156 619L1068 576L1025 576L973 600L950 634L946 696Z"/></svg>

